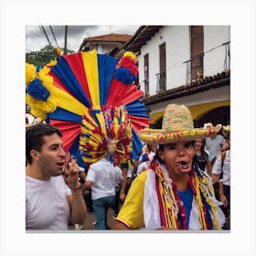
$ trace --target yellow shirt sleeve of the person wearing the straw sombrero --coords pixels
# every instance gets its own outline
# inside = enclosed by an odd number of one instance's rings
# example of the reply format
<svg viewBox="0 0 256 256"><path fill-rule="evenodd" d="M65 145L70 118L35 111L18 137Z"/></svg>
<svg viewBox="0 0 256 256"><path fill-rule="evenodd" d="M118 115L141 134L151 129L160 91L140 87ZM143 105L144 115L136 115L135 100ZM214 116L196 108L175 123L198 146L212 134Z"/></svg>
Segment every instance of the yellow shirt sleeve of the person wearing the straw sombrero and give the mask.
<svg viewBox="0 0 256 256"><path fill-rule="evenodd" d="M117 216L132 229L144 227L144 186L148 171L137 176Z"/></svg>

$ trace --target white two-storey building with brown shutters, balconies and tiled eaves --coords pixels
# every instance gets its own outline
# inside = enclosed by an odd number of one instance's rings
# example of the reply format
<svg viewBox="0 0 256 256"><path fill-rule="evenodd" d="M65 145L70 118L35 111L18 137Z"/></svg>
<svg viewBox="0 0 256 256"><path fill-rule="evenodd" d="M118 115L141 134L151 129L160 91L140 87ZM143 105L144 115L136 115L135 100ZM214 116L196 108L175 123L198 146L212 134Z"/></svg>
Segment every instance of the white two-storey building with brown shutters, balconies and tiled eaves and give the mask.
<svg viewBox="0 0 256 256"><path fill-rule="evenodd" d="M230 27L144 26L139 30L126 49L137 55L138 83L153 126L168 103L187 105L198 125L229 123Z"/></svg>

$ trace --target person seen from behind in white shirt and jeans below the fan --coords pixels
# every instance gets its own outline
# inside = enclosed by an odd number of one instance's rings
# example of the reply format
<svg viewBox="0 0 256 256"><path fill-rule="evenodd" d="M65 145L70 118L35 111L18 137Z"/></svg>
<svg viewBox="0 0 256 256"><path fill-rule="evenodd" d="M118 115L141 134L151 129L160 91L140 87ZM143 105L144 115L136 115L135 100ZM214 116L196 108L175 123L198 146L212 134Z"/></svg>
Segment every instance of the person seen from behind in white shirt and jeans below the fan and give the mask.
<svg viewBox="0 0 256 256"><path fill-rule="evenodd" d="M91 187L92 207L97 219L96 229L109 229L107 211L114 206L115 185L122 180L121 168L114 167L107 157L90 165L82 191L85 192Z"/></svg>

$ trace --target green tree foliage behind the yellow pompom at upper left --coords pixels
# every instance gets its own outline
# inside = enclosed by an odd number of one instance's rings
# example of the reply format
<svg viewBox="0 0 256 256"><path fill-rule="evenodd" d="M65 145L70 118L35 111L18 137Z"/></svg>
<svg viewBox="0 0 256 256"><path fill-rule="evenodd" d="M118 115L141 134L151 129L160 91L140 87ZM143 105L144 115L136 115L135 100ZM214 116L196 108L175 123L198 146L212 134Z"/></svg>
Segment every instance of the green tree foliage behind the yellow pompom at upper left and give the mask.
<svg viewBox="0 0 256 256"><path fill-rule="evenodd" d="M60 48L61 52L64 52L63 48ZM67 50L68 54L73 53L73 50ZM43 68L52 59L57 59L56 48L51 45L41 48L39 51L31 51L26 53L26 62Z"/></svg>

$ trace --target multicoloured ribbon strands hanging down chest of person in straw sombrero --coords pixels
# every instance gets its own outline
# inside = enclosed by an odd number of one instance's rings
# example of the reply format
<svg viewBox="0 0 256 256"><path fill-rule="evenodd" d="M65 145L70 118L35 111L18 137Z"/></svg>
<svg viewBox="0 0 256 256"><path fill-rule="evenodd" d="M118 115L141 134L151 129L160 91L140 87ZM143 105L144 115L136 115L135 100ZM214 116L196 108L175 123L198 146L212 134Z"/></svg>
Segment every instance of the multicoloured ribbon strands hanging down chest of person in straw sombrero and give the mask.
<svg viewBox="0 0 256 256"><path fill-rule="evenodd" d="M175 183L173 181L169 184L167 183L165 171L158 162L154 161L151 167L155 171L155 186L161 225L171 229L187 229L186 210L177 195ZM193 165L189 174L188 184L192 188L195 197L201 229L220 229L216 215L217 207L208 197L208 193L211 197L214 197L213 188L208 177L197 168L197 165Z"/></svg>

